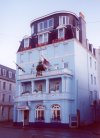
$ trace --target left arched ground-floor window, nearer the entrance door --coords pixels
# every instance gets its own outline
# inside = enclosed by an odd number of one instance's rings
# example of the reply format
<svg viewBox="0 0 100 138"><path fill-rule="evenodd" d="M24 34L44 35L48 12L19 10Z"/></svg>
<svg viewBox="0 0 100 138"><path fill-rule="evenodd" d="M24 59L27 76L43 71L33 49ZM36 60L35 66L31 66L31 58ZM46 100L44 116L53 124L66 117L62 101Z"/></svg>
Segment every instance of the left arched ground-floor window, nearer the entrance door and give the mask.
<svg viewBox="0 0 100 138"><path fill-rule="evenodd" d="M43 105L38 105L36 107L36 121L43 121L44 120L44 111L45 108Z"/></svg>

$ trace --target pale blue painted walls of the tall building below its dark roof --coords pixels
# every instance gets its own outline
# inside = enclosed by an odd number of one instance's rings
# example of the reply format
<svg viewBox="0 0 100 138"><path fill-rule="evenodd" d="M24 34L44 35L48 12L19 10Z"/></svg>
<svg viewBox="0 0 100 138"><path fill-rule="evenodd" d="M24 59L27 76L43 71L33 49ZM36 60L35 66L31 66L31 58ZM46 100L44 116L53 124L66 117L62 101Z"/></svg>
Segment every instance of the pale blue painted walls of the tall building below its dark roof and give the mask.
<svg viewBox="0 0 100 138"><path fill-rule="evenodd" d="M42 58L50 65L36 76ZM81 124L94 121L91 105L98 99L98 82L96 58L88 46L72 38L18 52L17 63L25 72L16 71L14 122L69 124L70 115Z"/></svg>

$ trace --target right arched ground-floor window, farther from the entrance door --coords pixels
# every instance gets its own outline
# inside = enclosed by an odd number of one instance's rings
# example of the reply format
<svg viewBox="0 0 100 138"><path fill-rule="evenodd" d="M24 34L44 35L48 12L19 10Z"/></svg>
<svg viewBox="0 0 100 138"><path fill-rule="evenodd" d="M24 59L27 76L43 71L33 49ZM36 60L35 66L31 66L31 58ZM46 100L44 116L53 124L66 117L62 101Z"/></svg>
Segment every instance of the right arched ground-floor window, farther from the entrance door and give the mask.
<svg viewBox="0 0 100 138"><path fill-rule="evenodd" d="M52 121L60 121L61 117L60 117L60 105L55 104L52 106Z"/></svg>

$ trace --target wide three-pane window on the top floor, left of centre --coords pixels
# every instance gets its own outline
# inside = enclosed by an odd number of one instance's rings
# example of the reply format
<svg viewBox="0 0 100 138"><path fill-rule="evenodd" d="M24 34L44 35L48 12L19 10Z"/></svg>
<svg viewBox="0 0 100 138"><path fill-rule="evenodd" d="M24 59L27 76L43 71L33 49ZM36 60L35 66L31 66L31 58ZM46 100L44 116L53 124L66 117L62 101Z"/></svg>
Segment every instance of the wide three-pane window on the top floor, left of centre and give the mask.
<svg viewBox="0 0 100 138"><path fill-rule="evenodd" d="M49 29L51 27L53 27L53 18L38 23L38 32L44 31L44 30Z"/></svg>

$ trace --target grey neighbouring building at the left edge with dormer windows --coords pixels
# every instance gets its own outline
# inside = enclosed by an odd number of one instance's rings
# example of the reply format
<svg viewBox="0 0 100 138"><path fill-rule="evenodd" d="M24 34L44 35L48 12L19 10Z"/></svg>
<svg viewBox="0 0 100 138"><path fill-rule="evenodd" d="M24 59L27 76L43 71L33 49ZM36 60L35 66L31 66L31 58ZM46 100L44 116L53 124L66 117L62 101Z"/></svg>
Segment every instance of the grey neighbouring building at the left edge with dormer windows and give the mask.
<svg viewBox="0 0 100 138"><path fill-rule="evenodd" d="M0 121L13 120L15 70L0 65Z"/></svg>

